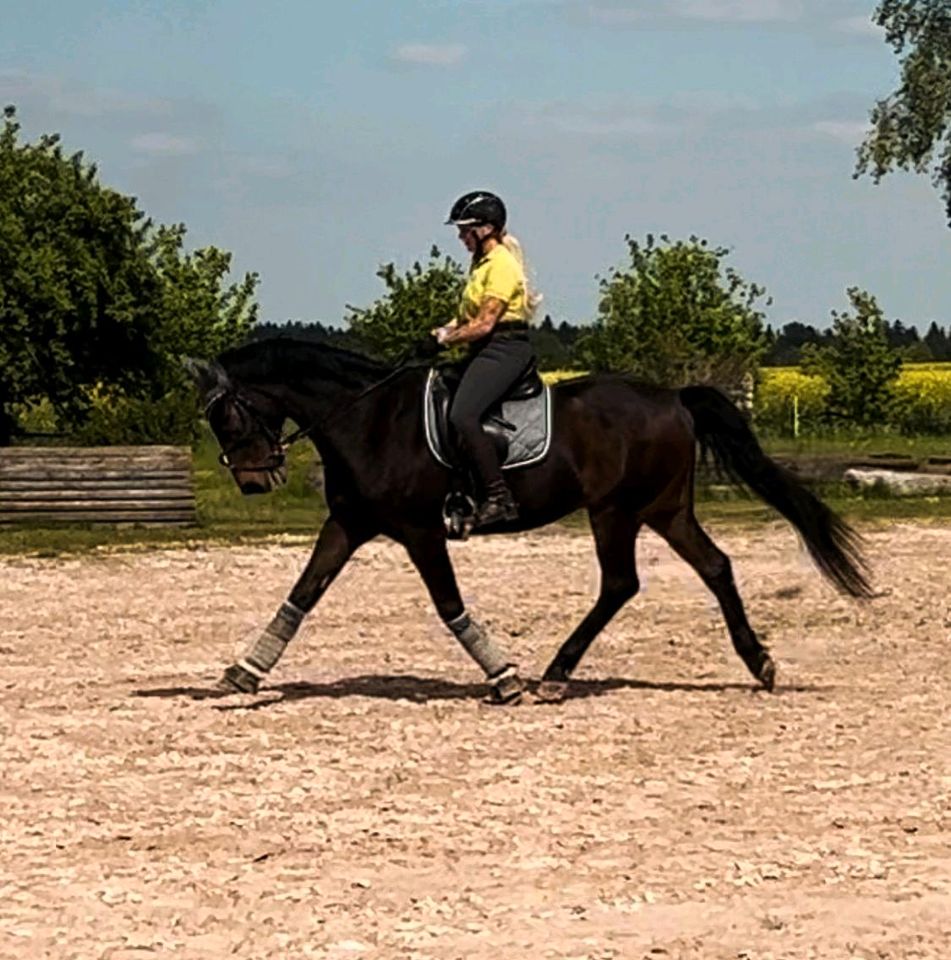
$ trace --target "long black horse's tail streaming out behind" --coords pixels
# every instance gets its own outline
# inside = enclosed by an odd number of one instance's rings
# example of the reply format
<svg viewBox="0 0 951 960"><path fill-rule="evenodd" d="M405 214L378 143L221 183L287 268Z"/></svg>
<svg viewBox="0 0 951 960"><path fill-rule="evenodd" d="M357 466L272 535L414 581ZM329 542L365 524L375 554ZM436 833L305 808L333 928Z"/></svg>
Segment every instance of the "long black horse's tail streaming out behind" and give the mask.
<svg viewBox="0 0 951 960"><path fill-rule="evenodd" d="M743 414L713 387L684 387L680 400L693 417L701 456L711 452L733 483L749 487L775 507L799 531L819 569L836 586L853 597L873 596L859 534L763 452Z"/></svg>

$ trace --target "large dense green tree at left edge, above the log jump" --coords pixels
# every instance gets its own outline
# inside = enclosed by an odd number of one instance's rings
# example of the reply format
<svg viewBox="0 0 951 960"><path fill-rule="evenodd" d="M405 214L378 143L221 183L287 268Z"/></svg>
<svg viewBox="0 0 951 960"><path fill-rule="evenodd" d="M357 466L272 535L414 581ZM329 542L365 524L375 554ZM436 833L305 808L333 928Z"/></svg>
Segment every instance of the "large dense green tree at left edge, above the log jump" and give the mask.
<svg viewBox="0 0 951 960"><path fill-rule="evenodd" d="M223 287L230 255L183 252L57 135L0 131L0 445L14 404L46 398L61 427L94 394L157 399L183 381L175 354L217 352L250 326L256 277Z"/></svg>

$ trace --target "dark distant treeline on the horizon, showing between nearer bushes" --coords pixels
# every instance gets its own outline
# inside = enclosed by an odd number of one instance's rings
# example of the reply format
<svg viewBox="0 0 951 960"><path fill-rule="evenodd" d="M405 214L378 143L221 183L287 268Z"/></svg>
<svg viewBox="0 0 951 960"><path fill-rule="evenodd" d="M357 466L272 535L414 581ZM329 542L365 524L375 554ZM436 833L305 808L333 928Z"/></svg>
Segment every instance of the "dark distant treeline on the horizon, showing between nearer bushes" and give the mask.
<svg viewBox="0 0 951 960"><path fill-rule="evenodd" d="M562 321L557 326L550 316L533 327L530 336L542 370L564 370L574 364L574 346L585 327ZM909 361L951 361L951 327L938 326L932 321L922 336L915 327L906 327L901 320L885 322L889 343L901 351ZM766 328L768 348L763 365L769 367L794 367L799 363L802 348L807 343L829 342L829 330L819 330L811 324L794 321L778 330ZM295 337L301 340L325 341L350 350L365 349L350 330L343 327L325 326L319 322L307 323L288 320L285 323L259 322L251 329L250 339L264 340L270 337Z"/></svg>

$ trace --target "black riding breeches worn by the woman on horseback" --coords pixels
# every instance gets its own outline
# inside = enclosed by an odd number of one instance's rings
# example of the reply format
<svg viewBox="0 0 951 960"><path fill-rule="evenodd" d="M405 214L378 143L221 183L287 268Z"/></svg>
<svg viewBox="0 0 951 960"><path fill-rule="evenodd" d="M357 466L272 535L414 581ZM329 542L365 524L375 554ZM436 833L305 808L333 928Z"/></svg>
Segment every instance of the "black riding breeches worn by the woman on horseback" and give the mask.
<svg viewBox="0 0 951 960"><path fill-rule="evenodd" d="M478 473L483 491L502 480L502 468L492 440L482 430L482 418L534 358L525 333L494 332L477 344L449 410L449 422L464 453Z"/></svg>

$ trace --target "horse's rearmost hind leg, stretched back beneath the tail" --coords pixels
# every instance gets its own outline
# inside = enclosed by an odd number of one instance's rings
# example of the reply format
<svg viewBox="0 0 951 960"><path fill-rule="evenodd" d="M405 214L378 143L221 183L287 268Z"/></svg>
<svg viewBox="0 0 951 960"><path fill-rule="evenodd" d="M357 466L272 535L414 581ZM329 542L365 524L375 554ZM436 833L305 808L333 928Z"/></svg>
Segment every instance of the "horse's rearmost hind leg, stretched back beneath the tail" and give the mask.
<svg viewBox="0 0 951 960"><path fill-rule="evenodd" d="M733 582L730 558L707 536L690 507L648 524L697 571L720 603L733 647L750 673L767 689L776 682L776 666L746 619L743 601Z"/></svg>

